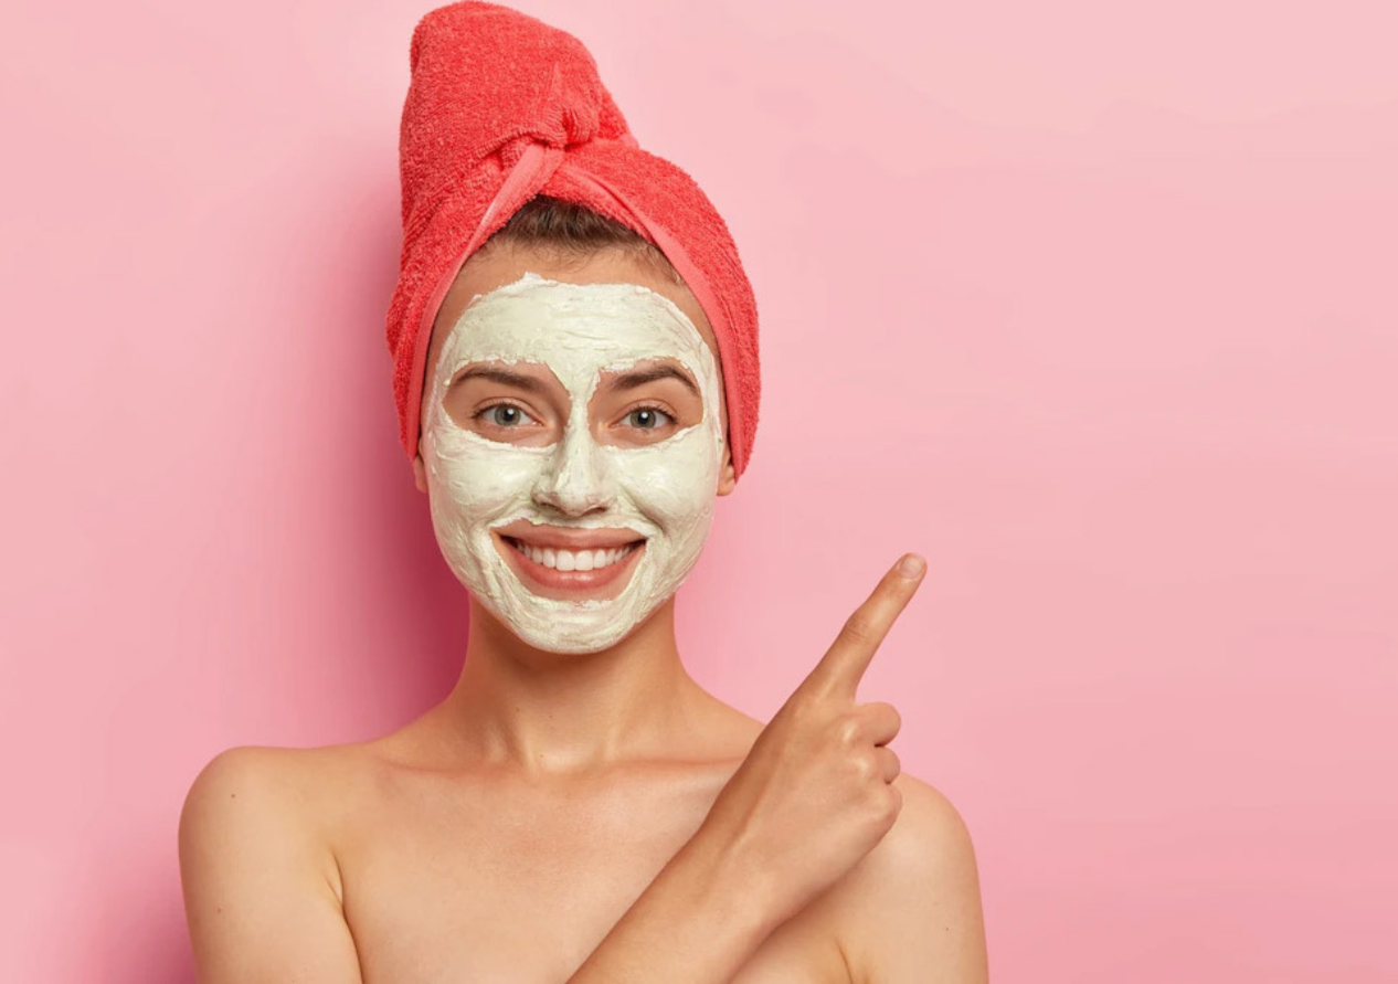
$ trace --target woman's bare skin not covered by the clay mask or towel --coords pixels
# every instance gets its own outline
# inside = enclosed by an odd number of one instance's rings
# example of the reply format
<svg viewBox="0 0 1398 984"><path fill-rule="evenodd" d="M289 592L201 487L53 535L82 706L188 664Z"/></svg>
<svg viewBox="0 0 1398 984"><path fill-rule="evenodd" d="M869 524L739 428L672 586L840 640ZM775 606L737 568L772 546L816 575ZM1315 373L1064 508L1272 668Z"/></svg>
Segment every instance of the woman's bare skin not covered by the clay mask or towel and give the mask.
<svg viewBox="0 0 1398 984"><path fill-rule="evenodd" d="M582 266L478 253L439 326L524 270L642 284L714 345L682 284L619 253ZM461 397L461 421L521 396L480 386ZM688 412L664 380L651 386L628 398ZM598 407L596 425L625 410ZM415 471L426 491L421 458ZM727 464L714 493L733 486ZM688 675L674 598L589 656L533 649L471 598L460 679L407 727L350 745L235 748L200 773L180 819L199 980L987 980L966 826L900 772L896 711L856 702L918 580L889 572L768 725Z"/></svg>

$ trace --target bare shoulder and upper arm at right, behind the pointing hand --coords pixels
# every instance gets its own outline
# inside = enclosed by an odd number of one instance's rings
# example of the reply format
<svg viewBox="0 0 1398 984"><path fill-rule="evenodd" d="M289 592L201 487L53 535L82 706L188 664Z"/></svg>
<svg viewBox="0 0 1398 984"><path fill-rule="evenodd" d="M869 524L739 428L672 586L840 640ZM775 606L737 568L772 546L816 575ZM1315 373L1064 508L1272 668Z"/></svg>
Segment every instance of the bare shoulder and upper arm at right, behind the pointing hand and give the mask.
<svg viewBox="0 0 1398 984"><path fill-rule="evenodd" d="M842 946L854 981L983 984L980 876L970 830L939 790L893 780L903 808L846 883Z"/></svg>

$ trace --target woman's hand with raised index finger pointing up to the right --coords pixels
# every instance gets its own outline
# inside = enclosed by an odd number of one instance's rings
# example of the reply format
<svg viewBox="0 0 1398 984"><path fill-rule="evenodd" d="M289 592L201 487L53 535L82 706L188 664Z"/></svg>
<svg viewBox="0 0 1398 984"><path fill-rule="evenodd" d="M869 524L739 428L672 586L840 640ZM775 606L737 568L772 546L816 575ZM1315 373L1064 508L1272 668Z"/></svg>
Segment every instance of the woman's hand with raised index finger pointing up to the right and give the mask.
<svg viewBox="0 0 1398 984"><path fill-rule="evenodd" d="M899 714L854 695L925 567L909 554L884 576L758 735L696 834L724 846L756 879L774 918L800 911L898 819L899 760L888 742Z"/></svg>

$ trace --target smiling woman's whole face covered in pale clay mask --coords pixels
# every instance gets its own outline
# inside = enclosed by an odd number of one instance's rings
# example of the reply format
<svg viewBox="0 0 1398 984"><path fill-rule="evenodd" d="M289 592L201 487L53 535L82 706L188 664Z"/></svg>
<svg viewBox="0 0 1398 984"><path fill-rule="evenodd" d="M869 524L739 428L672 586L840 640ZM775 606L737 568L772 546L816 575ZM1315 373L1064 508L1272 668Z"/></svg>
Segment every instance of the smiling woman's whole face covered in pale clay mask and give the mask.
<svg viewBox="0 0 1398 984"><path fill-rule="evenodd" d="M684 285L619 252L488 250L443 302L419 488L453 572L531 646L614 646L699 559L734 482L706 330Z"/></svg>

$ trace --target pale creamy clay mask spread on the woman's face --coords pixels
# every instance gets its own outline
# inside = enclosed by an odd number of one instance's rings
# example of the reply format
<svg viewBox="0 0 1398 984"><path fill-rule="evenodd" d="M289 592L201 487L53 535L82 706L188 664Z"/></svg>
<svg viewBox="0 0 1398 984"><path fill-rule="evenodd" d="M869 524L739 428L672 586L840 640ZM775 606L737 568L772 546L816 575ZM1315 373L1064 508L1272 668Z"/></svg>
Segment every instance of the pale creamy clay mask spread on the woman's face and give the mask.
<svg viewBox="0 0 1398 984"><path fill-rule="evenodd" d="M653 444L600 444L589 404L601 373L658 358L678 361L693 376L703 419ZM554 372L570 400L559 440L510 444L452 419L443 407L449 384L467 363L489 361L542 363ZM675 593L699 559L724 450L719 369L698 328L668 298L636 284L563 284L534 273L477 295L442 345L422 421L442 554L477 600L528 644L555 653L614 646ZM646 545L615 598L545 598L500 555L514 548L496 548L491 535L521 519L628 528Z"/></svg>

